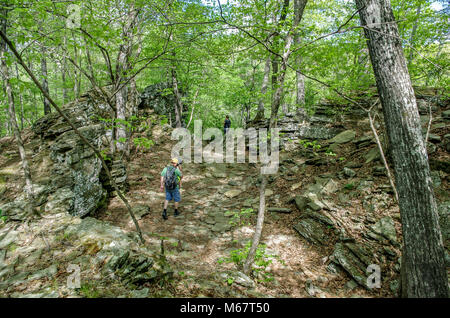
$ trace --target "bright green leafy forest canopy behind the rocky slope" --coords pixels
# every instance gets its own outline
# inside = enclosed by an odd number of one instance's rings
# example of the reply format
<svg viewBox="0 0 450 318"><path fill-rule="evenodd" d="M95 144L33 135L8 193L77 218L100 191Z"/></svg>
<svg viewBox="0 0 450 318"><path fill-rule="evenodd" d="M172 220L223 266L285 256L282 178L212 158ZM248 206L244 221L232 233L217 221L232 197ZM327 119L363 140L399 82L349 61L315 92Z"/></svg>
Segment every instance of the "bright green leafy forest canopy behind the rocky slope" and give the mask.
<svg viewBox="0 0 450 318"><path fill-rule="evenodd" d="M280 21L282 1L231 1L221 6L200 0L7 3L8 36L59 105L92 87L123 85L131 97L129 116L135 113L138 91L175 80L182 92L182 125L194 108L194 119L202 119L204 127L220 126L225 114L233 125L243 126L261 101L266 117L270 114L271 96L280 85L274 68L280 58L274 53L283 52L289 32L296 39L281 84L283 113L298 106L313 112L313 105L324 98L355 107L345 96L376 92L371 89L375 78L352 1L311 1L296 28L292 14ZM394 0L392 7L413 85L448 94L448 4ZM17 95L17 121L24 129L50 106L13 56L7 58ZM264 92L267 59L272 62L271 85ZM301 99L296 70L306 75ZM174 94L171 89L166 93ZM4 136L11 134L4 89L0 96Z"/></svg>

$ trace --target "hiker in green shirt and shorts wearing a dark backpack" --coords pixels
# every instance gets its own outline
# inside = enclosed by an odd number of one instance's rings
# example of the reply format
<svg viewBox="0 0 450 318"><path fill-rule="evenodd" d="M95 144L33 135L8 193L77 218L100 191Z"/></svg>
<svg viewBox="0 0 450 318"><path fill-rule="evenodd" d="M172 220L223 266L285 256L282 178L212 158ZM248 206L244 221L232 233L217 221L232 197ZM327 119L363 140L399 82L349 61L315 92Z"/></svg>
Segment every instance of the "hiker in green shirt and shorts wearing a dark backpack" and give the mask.
<svg viewBox="0 0 450 318"><path fill-rule="evenodd" d="M161 172L161 192L166 190L166 201L164 201L164 211L162 217L167 220L167 206L172 199L175 201L175 216L179 215L178 203L181 201L180 187L183 174L178 167L178 159L173 158L171 164Z"/></svg>

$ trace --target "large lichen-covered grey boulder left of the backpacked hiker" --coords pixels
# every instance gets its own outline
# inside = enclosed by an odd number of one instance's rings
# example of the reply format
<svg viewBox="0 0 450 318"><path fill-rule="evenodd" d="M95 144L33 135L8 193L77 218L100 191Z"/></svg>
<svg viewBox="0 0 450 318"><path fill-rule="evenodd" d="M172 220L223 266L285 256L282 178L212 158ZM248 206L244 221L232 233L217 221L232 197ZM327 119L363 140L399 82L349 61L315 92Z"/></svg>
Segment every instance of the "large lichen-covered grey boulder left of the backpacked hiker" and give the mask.
<svg viewBox="0 0 450 318"><path fill-rule="evenodd" d="M101 149L106 129L102 122L112 115L109 105L92 93L65 105L62 111L78 131L97 149ZM67 211L74 216L88 215L103 207L107 199L100 174L101 160L83 143L67 122L56 113L39 119L33 132L40 137L40 152L48 154L46 212Z"/></svg>

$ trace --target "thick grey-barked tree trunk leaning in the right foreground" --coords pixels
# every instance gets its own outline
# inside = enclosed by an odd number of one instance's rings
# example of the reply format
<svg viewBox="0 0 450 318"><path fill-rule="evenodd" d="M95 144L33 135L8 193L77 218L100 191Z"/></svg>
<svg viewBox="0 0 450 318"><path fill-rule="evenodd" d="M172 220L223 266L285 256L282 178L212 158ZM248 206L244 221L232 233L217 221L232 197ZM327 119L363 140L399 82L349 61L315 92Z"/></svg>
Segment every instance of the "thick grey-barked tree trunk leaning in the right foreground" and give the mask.
<svg viewBox="0 0 450 318"><path fill-rule="evenodd" d="M402 295L448 297L445 254L420 117L389 0L355 0L392 147L403 232Z"/></svg>

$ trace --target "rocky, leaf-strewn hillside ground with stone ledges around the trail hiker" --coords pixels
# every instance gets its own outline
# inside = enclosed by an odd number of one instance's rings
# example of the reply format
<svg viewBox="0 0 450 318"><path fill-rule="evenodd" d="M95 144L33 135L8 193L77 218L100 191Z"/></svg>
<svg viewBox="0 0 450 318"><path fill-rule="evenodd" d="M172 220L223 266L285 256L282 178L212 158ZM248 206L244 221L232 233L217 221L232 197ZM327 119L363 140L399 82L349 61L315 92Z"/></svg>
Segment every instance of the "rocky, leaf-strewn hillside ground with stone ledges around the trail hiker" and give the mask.
<svg viewBox="0 0 450 318"><path fill-rule="evenodd" d="M81 118L78 124L100 147L107 145L105 134L90 118L107 108L96 103L86 95L66 110ZM448 247L450 116L445 105L434 114L429 152ZM183 163L181 215L173 215L172 202L165 221L159 180L175 141L168 125L138 132L155 144L132 149L128 162L112 161L111 169L127 190L146 240L142 244L123 203L105 183L98 159L58 116L42 118L23 134L35 171L39 217L23 215L18 152L12 138L0 140L0 296L396 296L400 214L369 124L352 116L329 127L328 118L316 115L317 126L300 132L315 134L314 142L287 134L278 173L268 176L261 267L250 276L237 263L256 224L257 164ZM424 118L424 127L427 122ZM289 118L280 121L291 134L297 132L294 124ZM224 261L231 256L235 262ZM374 266L379 285L369 279Z"/></svg>

